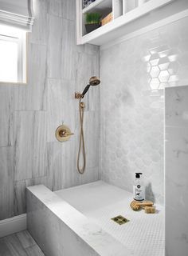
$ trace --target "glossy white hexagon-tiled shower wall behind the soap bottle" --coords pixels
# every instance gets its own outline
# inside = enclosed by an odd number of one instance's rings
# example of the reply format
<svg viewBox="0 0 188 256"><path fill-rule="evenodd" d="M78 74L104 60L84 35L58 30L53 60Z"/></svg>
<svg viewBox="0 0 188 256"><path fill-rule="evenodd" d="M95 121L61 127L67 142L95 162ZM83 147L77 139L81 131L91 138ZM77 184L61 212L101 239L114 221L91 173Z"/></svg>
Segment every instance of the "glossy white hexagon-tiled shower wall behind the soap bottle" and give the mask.
<svg viewBox="0 0 188 256"><path fill-rule="evenodd" d="M147 198L162 203L163 88L188 84L187 23L184 18L101 52L101 178L132 191L135 172L143 172Z"/></svg>

